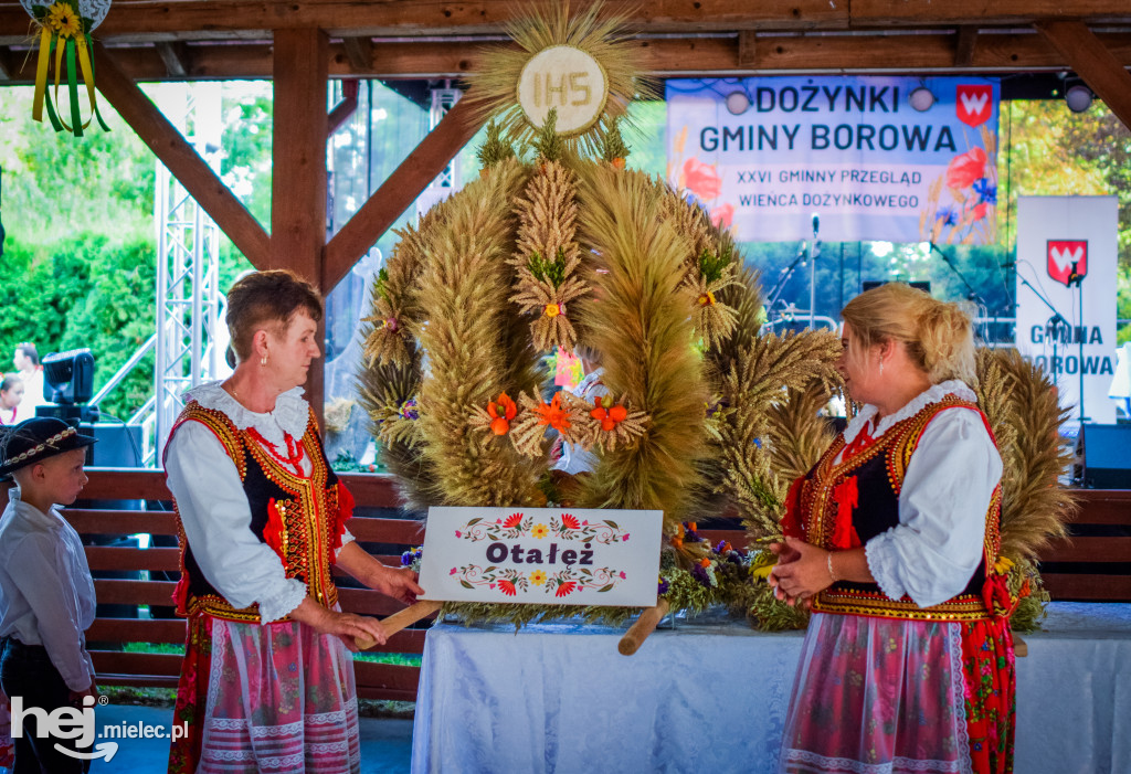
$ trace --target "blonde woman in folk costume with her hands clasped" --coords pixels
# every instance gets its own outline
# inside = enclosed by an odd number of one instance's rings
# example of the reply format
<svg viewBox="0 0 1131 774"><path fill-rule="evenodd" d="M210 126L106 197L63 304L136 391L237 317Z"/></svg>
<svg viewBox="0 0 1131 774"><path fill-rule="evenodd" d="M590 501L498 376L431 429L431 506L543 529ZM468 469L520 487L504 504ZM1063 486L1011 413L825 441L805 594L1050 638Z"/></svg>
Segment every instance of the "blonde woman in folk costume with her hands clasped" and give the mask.
<svg viewBox="0 0 1131 774"><path fill-rule="evenodd" d="M779 599L812 618L785 772L1011 772L1002 462L970 385L970 319L903 284L844 308L864 407L789 489Z"/></svg>

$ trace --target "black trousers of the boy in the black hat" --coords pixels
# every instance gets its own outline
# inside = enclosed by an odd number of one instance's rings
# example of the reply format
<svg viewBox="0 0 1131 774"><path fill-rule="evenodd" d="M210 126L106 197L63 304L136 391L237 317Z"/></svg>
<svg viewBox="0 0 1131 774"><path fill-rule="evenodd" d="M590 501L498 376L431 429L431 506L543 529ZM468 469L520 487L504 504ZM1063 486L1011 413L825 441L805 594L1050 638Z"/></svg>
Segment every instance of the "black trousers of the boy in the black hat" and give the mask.
<svg viewBox="0 0 1131 774"><path fill-rule="evenodd" d="M63 682L59 670L51 663L48 651L42 645L25 645L11 637L2 642L0 685L3 686L9 699L19 696L25 711L28 707L41 707L49 714L59 707L72 706L70 688ZM14 774L83 774L90 768L88 759L71 757L54 747L58 741L62 747L74 750L77 740L41 738L38 730L38 719L25 715L23 736L16 739L14 734L12 738L16 750ZM89 753L92 748L78 749Z"/></svg>

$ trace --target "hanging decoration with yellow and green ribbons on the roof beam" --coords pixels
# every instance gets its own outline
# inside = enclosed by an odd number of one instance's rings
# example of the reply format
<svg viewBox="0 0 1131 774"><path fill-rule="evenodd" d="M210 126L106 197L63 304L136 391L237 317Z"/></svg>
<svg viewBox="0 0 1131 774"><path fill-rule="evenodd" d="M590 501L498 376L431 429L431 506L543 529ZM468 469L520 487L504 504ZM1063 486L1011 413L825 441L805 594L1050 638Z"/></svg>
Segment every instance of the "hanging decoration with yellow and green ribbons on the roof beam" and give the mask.
<svg viewBox="0 0 1131 774"><path fill-rule="evenodd" d="M36 10L41 11L42 7ZM70 0L55 0L45 10L42 10L35 21L40 25L40 59L35 69L35 99L32 105L32 118L43 121L43 106L48 107L48 118L54 130L66 129L75 137L83 137L83 130L97 119L103 131L110 131L110 127L102 120L98 105L94 95L94 62L90 59L90 34L89 23L79 16L78 9ZM48 69L51 54L55 54L55 99L59 102L59 85L63 76L63 56L66 56L67 93L70 104L70 120L68 124L55 112L52 105L51 94L48 92ZM90 101L90 118L85 123L81 121L81 112L78 104L78 76L81 73L86 84L87 97Z"/></svg>

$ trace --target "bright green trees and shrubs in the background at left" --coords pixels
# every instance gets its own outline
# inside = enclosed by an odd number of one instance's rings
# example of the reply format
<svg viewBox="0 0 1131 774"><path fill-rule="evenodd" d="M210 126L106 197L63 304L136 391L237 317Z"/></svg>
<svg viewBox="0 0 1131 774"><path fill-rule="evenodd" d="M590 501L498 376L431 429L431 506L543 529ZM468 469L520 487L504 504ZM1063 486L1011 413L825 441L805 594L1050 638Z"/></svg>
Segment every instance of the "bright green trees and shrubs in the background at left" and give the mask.
<svg viewBox="0 0 1131 774"><path fill-rule="evenodd" d="M146 90L188 85L153 85ZM271 90L226 89L221 175L265 227L270 223ZM32 89L0 89L0 168L7 231L0 261L0 371L11 371L19 341L41 355L89 347L95 388L153 336L156 245L153 154L104 101L110 132L55 134L32 120ZM221 238L221 285L248 261ZM103 402L129 418L153 394L147 356Z"/></svg>

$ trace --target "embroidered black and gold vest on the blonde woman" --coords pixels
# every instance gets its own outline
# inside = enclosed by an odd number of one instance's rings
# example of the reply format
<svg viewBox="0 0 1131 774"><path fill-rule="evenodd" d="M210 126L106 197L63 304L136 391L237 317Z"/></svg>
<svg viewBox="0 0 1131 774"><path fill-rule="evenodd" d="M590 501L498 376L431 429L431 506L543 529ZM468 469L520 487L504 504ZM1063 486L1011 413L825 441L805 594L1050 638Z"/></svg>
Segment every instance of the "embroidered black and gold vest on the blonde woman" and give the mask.
<svg viewBox="0 0 1131 774"><path fill-rule="evenodd" d="M862 546L898 525L899 492L923 431L940 411L956 407L978 411L985 420L976 403L947 395L896 423L878 441L835 464L845 449L844 434L838 435L813 469L795 485L797 490L791 493L801 537L821 548L844 550ZM986 567L993 566L1001 547L1000 519L999 484L986 511L982 562L962 592L942 605L921 608L909 597L891 599L875 583L840 581L813 598L813 610L915 620L991 618L982 590Z"/></svg>

